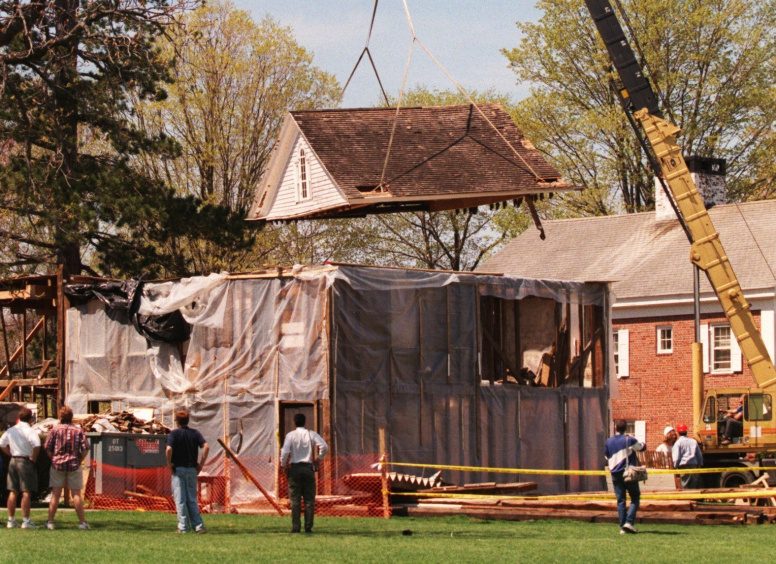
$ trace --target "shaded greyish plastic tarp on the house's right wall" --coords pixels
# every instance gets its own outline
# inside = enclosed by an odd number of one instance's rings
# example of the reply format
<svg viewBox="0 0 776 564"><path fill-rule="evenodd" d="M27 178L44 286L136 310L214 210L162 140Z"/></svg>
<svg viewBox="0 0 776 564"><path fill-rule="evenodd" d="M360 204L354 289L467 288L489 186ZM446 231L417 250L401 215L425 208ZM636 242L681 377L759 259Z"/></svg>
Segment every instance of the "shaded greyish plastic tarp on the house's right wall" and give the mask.
<svg viewBox="0 0 776 564"><path fill-rule="evenodd" d="M603 285L367 268L341 268L334 277L332 409L340 457L377 453L384 427L395 463L599 469L607 390L481 381L478 298L603 305ZM576 417L570 424L567 407ZM447 470L443 478L536 481L547 493L602 488L564 476Z"/></svg>

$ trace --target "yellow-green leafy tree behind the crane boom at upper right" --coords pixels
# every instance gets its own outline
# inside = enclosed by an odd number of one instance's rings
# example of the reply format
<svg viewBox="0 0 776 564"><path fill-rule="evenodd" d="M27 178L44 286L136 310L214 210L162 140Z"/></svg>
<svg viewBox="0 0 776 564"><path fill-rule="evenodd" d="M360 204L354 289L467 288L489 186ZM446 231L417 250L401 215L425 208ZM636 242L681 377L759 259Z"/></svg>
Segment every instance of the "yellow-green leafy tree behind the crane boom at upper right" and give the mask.
<svg viewBox="0 0 776 564"><path fill-rule="evenodd" d="M686 155L728 161L735 198L773 192L776 2L622 0L666 114ZM652 173L609 80L610 62L583 2L540 0L504 53L531 95L518 123L573 183L561 213L650 208Z"/></svg>

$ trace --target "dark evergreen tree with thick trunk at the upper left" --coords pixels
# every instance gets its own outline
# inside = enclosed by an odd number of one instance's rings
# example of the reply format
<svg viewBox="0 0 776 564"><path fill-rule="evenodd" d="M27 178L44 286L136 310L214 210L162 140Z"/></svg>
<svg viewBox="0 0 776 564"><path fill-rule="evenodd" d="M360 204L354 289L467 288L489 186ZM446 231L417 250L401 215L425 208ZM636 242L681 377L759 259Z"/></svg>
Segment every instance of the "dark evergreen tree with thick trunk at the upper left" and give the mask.
<svg viewBox="0 0 776 564"><path fill-rule="evenodd" d="M130 94L165 96L170 66L154 43L187 7L168 0L0 2L6 267L57 262L76 274L84 259L111 271L116 252L154 255L148 243L137 246L132 231L170 194L129 157L172 155L176 147L146 135L127 114Z"/></svg>

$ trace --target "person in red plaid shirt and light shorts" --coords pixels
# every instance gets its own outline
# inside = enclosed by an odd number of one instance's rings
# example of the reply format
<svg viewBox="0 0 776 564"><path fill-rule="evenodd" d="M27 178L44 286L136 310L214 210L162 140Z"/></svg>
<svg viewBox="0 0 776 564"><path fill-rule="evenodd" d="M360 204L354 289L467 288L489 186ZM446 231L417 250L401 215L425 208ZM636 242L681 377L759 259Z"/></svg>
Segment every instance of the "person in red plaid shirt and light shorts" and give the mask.
<svg viewBox="0 0 776 564"><path fill-rule="evenodd" d="M73 506L78 516L78 528L87 530L89 524L84 515L84 503L81 490L84 487L84 475L81 462L89 452L89 442L80 427L73 425L73 410L63 405L59 409L59 425L49 431L45 444L46 454L51 459L49 483L51 485L51 502L46 528L54 530L54 517L59 506L59 497L65 486L70 489Z"/></svg>

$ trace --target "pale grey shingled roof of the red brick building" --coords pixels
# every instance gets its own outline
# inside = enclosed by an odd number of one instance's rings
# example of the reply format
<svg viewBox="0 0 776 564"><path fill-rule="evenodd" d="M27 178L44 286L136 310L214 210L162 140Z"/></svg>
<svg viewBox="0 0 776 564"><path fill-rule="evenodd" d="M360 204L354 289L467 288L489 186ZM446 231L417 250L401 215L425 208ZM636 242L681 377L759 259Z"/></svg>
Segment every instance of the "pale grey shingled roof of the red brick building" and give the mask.
<svg viewBox="0 0 776 564"><path fill-rule="evenodd" d="M776 285L776 200L709 210L739 282ZM542 241L528 230L478 270L557 280L610 281L618 299L691 295L690 244L677 220L654 212L544 221ZM701 291L711 292L704 276Z"/></svg>

